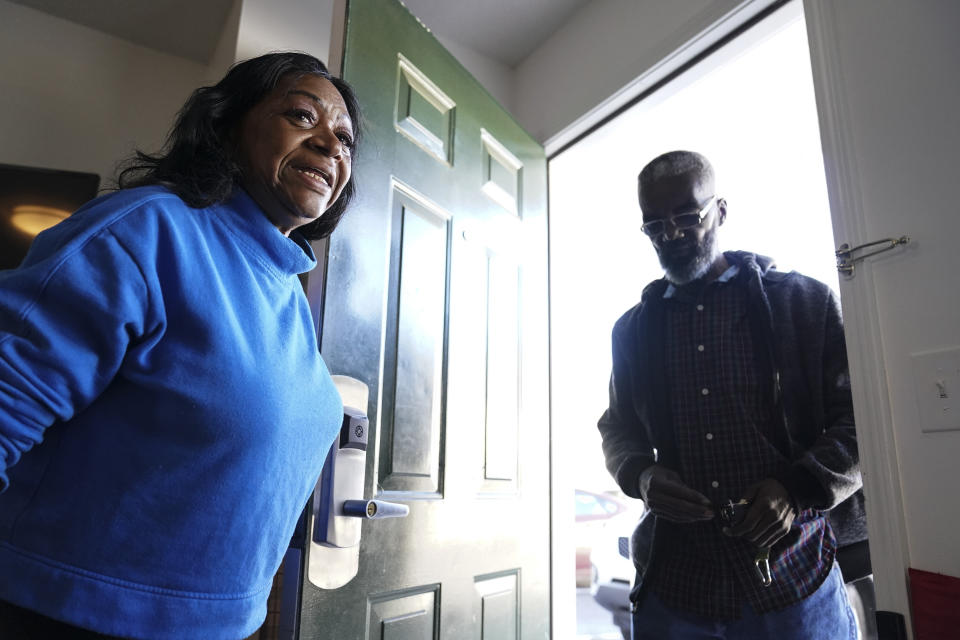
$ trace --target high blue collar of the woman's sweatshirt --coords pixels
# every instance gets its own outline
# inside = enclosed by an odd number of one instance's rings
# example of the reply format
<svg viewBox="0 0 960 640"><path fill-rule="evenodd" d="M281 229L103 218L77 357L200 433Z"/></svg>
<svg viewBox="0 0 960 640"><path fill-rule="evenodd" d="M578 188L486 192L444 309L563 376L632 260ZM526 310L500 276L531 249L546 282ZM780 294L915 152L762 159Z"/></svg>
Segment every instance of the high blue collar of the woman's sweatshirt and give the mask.
<svg viewBox="0 0 960 640"><path fill-rule="evenodd" d="M305 273L317 266L310 243L299 231L280 233L263 209L241 187L217 208L247 250L277 277Z"/></svg>

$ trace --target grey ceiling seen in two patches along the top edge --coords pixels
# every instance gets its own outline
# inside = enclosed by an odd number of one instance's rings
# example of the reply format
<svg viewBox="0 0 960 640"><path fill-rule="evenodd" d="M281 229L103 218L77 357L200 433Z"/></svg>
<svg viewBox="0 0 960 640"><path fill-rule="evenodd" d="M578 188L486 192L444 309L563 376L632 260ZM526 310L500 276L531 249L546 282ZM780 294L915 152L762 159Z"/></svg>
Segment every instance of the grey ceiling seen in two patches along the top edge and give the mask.
<svg viewBox="0 0 960 640"><path fill-rule="evenodd" d="M200 63L209 62L233 0L12 0ZM403 0L445 40L514 67L588 0Z"/></svg>

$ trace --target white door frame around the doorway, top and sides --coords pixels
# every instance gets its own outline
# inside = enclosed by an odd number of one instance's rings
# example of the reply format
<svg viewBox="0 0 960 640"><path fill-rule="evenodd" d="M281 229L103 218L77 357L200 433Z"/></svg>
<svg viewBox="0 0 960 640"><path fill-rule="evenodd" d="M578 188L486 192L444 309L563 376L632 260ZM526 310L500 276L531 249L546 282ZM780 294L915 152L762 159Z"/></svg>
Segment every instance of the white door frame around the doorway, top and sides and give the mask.
<svg viewBox="0 0 960 640"><path fill-rule="evenodd" d="M863 207L850 127L845 126L854 118L845 99L847 85L839 55L842 37L836 26L838 22L832 1L747 0L738 5L710 28L692 40L680 43L672 54L548 139L544 144L548 166L553 157L659 90L754 23L762 21L786 4L798 2L803 8L810 48L834 237L838 243L845 241L852 246L872 240L866 234L867 215ZM902 614L906 619L908 635L912 637L907 580L907 527L890 391L884 375L886 362L873 275L869 269L859 269L856 278L841 278L840 288L850 374L855 380L852 395L857 431L860 436L866 436L858 438L858 445L864 493L869 496L867 524L877 610ZM551 446L552 457L562 459L562 449L556 443ZM563 489L567 487L562 474L554 472L551 486L554 492L553 512L556 514L553 525L565 526L567 521L562 517L570 509L557 506L557 500L563 500L566 496ZM557 587L571 582L557 578L557 572L563 570L563 563L554 561L553 599L556 602L563 601L563 595ZM554 628L564 628L557 626L560 622L558 615L563 614L554 612ZM563 619L563 622L566 620Z"/></svg>

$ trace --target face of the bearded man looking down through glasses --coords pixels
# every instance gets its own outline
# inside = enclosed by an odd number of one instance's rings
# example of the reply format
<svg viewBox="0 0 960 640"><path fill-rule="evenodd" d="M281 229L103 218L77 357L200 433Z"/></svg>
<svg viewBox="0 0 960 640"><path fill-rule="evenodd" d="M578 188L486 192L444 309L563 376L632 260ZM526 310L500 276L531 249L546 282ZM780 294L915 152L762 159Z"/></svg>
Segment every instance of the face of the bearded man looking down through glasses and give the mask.
<svg viewBox="0 0 960 640"><path fill-rule="evenodd" d="M702 212L703 222L687 229L677 229L669 219L700 211L714 195L713 182L701 180L695 173L664 177L640 191L643 221L665 222L663 232L650 236L650 241L667 279L674 284L701 278L719 257L717 227L726 218L726 203L710 204Z"/></svg>

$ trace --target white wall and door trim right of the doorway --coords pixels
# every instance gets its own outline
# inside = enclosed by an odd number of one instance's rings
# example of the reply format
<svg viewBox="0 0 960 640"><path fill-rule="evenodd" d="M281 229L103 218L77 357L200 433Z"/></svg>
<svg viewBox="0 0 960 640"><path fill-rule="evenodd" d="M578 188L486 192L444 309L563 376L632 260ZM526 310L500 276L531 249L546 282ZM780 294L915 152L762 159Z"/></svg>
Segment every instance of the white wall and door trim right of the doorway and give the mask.
<svg viewBox="0 0 960 640"><path fill-rule="evenodd" d="M960 577L960 418L921 430L911 357L960 347L960 4L804 5L837 241L912 238L841 284L878 604L909 613L906 567Z"/></svg>

